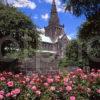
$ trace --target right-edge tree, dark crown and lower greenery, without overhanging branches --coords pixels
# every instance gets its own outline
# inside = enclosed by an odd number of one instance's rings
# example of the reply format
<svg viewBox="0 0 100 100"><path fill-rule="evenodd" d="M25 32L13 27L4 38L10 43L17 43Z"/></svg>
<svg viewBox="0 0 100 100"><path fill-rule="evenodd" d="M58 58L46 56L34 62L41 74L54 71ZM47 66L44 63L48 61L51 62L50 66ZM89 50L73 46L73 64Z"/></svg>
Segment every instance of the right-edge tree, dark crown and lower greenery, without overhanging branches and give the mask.
<svg viewBox="0 0 100 100"><path fill-rule="evenodd" d="M100 58L100 12L89 17L81 25L78 38L84 43L85 58L92 61L95 58Z"/></svg>

